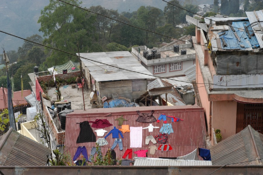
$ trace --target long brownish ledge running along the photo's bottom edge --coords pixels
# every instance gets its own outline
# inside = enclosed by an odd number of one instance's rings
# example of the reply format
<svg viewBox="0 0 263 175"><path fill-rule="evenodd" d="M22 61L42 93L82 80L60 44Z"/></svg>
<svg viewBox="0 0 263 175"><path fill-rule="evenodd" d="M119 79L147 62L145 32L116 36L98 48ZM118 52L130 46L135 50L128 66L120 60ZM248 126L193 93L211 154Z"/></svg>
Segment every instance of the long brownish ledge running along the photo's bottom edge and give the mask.
<svg viewBox="0 0 263 175"><path fill-rule="evenodd" d="M255 175L263 171L263 166L1 166L0 171L12 175Z"/></svg>

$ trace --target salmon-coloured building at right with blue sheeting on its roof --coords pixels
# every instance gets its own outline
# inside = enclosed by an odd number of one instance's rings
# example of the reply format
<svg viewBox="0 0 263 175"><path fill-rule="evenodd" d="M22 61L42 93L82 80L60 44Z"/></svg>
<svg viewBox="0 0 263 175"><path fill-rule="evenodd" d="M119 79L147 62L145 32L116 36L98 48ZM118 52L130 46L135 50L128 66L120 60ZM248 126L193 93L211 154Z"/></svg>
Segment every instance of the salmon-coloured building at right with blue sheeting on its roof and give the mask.
<svg viewBox="0 0 263 175"><path fill-rule="evenodd" d="M227 139L248 125L263 133L263 12L246 14L205 23L186 16L197 25L196 83L211 137L212 128Z"/></svg>

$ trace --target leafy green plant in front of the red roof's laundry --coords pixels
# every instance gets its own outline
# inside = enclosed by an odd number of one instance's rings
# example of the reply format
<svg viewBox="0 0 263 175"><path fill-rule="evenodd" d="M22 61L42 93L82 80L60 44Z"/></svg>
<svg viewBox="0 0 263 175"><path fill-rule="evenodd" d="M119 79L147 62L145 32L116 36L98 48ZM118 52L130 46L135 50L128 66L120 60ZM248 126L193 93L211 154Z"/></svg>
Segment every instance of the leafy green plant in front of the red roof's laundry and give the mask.
<svg viewBox="0 0 263 175"><path fill-rule="evenodd" d="M113 165L114 162L116 161L112 159L110 151L107 151L106 155L102 156L101 150L99 149L99 145L97 143L96 143L96 151L97 151L97 156L91 158L93 165L101 165L101 166Z"/></svg>

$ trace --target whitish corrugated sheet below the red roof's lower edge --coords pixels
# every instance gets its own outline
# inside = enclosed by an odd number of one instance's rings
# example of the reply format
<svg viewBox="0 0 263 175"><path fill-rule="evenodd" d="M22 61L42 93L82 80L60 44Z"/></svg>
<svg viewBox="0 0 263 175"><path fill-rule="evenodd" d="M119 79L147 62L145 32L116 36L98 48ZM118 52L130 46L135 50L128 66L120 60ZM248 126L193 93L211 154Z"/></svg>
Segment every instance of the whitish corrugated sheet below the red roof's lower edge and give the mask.
<svg viewBox="0 0 263 175"><path fill-rule="evenodd" d="M209 166L211 161L134 157L134 166Z"/></svg>

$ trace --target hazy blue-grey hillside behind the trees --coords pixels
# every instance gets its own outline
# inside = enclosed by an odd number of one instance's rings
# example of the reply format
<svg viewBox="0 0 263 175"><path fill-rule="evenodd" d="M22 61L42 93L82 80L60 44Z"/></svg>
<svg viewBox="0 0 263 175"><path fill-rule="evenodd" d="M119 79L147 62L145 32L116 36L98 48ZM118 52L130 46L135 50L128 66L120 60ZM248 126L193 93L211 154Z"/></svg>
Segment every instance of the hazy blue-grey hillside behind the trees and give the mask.
<svg viewBox="0 0 263 175"><path fill-rule="evenodd" d="M140 6L154 6L164 9L166 3L162 0L83 0L81 6L89 8L90 6L101 5L108 9L118 10L118 12L136 11ZM182 0L180 2L183 2ZM197 0L196 4L209 3L213 0ZM20 36L29 37L33 34L42 33L38 31L40 24L37 23L41 10L49 4L49 0L1 0L0 3L0 23L1 31ZM0 45L5 50L17 50L22 46L23 40L0 33Z"/></svg>

